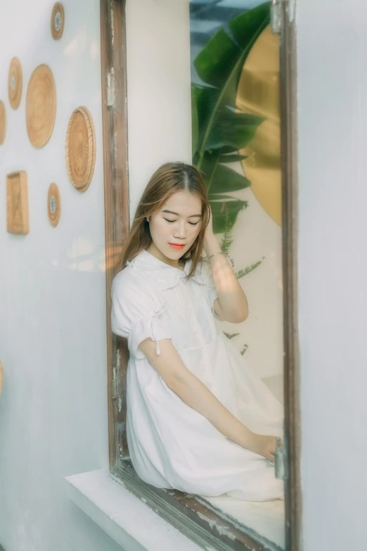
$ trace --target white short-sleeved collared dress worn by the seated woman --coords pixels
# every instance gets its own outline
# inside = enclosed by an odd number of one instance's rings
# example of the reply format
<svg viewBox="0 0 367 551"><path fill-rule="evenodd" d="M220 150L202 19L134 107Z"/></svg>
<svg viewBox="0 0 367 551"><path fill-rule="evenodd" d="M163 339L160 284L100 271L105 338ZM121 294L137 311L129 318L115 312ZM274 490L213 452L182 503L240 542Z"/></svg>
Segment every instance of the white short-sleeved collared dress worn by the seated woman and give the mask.
<svg viewBox="0 0 367 551"><path fill-rule="evenodd" d="M245 450L186 405L138 346L171 338L184 365L249 429L283 437L283 407L217 329L218 297L207 262L195 275L141 251L112 282L112 331L127 338L127 443L143 481L186 493L264 501L283 498L269 460ZM218 318L217 318L218 319Z"/></svg>

